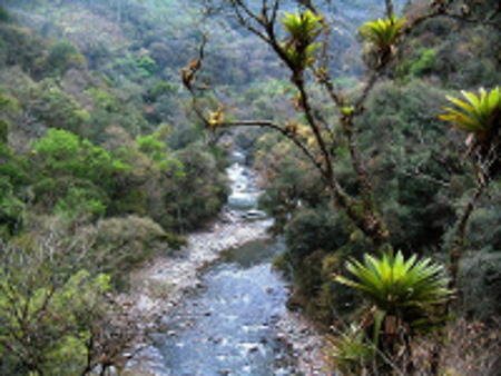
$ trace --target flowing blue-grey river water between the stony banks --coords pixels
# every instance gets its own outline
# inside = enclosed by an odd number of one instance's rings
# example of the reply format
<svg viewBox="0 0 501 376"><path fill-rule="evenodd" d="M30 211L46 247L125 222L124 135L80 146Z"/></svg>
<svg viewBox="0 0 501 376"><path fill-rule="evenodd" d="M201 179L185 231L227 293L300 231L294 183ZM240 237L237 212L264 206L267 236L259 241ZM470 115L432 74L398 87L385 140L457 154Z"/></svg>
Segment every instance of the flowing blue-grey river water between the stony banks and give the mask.
<svg viewBox="0 0 501 376"><path fill-rule="evenodd" d="M234 156L227 170L233 194L228 206L253 216L258 190L252 172ZM242 219L243 220L243 219ZM255 240L224 253L208 267L203 287L186 296L157 337L160 375L289 375L294 360L274 324L285 311L287 285L272 270L284 250L278 240Z"/></svg>

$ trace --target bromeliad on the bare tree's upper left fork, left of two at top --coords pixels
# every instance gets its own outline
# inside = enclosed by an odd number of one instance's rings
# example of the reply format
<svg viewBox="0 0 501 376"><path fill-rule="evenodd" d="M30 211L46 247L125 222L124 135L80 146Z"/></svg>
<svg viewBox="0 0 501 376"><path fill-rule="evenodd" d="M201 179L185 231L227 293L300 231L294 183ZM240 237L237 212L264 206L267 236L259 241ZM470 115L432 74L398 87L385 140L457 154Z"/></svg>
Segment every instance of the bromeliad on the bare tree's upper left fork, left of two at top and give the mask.
<svg viewBox="0 0 501 376"><path fill-rule="evenodd" d="M323 17L307 10L303 13L285 13L281 20L287 37L283 49L293 70L303 71L315 61L322 43L314 42L323 28Z"/></svg>

